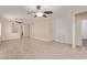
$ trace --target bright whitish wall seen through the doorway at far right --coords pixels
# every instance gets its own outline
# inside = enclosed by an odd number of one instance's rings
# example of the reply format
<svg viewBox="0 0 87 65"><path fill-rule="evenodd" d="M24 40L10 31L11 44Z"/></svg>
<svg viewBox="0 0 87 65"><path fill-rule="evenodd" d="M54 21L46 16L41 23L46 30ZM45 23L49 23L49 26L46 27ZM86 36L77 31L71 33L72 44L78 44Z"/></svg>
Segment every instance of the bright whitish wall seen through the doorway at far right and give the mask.
<svg viewBox="0 0 87 65"><path fill-rule="evenodd" d="M81 20L81 35L83 39L87 39L87 19Z"/></svg>

